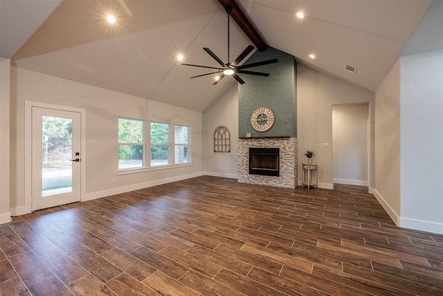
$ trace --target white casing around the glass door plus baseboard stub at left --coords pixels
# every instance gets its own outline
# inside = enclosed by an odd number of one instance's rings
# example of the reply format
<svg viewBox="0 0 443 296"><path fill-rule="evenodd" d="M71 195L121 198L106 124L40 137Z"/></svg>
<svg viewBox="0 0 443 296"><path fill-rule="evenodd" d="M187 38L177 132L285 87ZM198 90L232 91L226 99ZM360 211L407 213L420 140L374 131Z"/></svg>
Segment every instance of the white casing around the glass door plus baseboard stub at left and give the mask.
<svg viewBox="0 0 443 296"><path fill-rule="evenodd" d="M33 201L32 195L31 195L31 180L32 180L32 147L30 143L32 143L32 110L33 107L40 107L40 108L46 108L46 109L54 109L54 110L64 110L69 112L78 112L80 113L80 155L82 155L82 166L80 169L80 200L83 201L84 197L86 196L86 110L75 108L75 107L68 107L68 106L62 106L62 105L53 105L48 103L40 103L40 102L34 102L34 101L25 101L25 132L24 132L24 139L25 139L25 204L24 207L17 207L15 208L15 211L13 211L13 214L15 216L28 214L32 211L31 203Z"/></svg>

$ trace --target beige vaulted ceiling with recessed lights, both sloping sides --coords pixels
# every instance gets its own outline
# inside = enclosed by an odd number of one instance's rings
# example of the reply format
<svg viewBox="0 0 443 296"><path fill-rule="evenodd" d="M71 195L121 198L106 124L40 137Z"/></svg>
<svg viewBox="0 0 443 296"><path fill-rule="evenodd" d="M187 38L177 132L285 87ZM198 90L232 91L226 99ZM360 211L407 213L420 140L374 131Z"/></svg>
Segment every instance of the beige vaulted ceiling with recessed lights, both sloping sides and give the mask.
<svg viewBox="0 0 443 296"><path fill-rule="evenodd" d="M431 0L236 2L269 46L375 90ZM107 23L108 13L116 24ZM208 71L180 65L177 54L218 67L203 48L227 61L227 38L217 0L0 0L0 56L12 65L191 110L205 110L237 82L189 79ZM230 60L249 44L231 21Z"/></svg>

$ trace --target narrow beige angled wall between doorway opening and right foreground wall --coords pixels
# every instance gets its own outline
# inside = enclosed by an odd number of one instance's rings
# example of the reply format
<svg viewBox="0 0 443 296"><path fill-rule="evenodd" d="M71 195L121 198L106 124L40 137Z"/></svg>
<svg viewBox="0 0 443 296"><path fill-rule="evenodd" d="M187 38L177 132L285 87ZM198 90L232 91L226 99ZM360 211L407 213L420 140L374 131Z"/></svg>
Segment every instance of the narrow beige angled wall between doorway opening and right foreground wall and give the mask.
<svg viewBox="0 0 443 296"><path fill-rule="evenodd" d="M374 195L392 220L400 216L400 62L375 92Z"/></svg>

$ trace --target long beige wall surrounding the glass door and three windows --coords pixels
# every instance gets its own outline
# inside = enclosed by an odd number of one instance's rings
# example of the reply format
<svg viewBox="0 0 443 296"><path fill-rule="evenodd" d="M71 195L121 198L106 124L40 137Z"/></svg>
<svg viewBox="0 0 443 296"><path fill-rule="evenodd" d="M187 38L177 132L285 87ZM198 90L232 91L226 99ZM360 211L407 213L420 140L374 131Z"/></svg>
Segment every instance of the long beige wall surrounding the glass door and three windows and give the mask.
<svg viewBox="0 0 443 296"><path fill-rule="evenodd" d="M87 196L82 200L201 175L201 113L11 67L11 207L24 214L24 102L36 101L83 108L87 112ZM172 122L191 126L191 166L152 169L118 175L118 116ZM116 178L116 183L111 180Z"/></svg>

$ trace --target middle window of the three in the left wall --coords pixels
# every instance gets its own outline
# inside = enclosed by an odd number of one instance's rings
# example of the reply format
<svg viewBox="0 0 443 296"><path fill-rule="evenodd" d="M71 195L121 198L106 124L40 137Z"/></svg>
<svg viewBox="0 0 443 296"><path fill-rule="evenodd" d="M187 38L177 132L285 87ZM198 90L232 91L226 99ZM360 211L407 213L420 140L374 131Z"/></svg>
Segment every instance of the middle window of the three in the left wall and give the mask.
<svg viewBox="0 0 443 296"><path fill-rule="evenodd" d="M170 164L170 124L151 123L151 166Z"/></svg>

